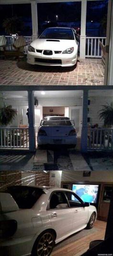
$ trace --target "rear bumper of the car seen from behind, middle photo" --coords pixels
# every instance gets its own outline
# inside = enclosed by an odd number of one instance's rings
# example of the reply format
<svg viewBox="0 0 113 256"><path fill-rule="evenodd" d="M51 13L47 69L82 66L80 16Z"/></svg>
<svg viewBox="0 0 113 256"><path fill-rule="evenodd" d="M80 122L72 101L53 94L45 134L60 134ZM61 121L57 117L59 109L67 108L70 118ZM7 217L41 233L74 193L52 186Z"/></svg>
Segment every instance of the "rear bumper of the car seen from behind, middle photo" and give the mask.
<svg viewBox="0 0 113 256"><path fill-rule="evenodd" d="M39 135L37 137L37 143L38 145L77 145L77 136L68 136L68 137L62 137L62 136L43 136Z"/></svg>

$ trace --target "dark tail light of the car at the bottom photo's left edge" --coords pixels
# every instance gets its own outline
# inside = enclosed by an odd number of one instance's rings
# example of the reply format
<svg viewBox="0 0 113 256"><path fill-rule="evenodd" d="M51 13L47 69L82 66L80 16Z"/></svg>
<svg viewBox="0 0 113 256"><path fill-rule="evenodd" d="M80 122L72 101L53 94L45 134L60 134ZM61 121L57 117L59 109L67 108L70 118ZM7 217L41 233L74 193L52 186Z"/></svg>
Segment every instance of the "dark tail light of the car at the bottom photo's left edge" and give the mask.
<svg viewBox="0 0 113 256"><path fill-rule="evenodd" d="M1 220L0 221L0 238L7 238L13 236L17 230L17 221L11 220Z"/></svg>

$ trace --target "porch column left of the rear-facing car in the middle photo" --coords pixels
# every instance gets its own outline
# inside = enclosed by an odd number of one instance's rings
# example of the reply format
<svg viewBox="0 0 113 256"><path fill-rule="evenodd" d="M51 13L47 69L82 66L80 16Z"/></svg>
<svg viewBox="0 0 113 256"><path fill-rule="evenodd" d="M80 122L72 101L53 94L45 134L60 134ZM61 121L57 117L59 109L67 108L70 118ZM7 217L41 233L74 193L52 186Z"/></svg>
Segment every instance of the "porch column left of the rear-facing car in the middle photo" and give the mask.
<svg viewBox="0 0 113 256"><path fill-rule="evenodd" d="M28 91L29 106L29 150L35 151L34 92Z"/></svg>

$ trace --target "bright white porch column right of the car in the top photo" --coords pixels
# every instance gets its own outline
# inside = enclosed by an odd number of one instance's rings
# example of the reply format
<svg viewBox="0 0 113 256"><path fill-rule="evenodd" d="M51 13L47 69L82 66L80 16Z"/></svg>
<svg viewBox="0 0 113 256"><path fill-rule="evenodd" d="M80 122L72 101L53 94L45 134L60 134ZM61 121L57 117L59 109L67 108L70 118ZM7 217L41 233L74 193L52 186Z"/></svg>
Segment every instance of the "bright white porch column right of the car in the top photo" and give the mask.
<svg viewBox="0 0 113 256"><path fill-rule="evenodd" d="M87 0L81 1L81 35L80 35L80 59L86 55L86 12Z"/></svg>

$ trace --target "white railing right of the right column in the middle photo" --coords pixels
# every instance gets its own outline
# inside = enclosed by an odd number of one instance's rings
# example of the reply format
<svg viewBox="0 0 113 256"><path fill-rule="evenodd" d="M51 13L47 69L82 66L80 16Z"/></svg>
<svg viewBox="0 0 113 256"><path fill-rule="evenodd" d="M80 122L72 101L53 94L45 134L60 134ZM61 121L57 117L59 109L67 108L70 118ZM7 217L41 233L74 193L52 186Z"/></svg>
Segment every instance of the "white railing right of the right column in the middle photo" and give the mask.
<svg viewBox="0 0 113 256"><path fill-rule="evenodd" d="M88 149L113 150L113 129L88 129Z"/></svg>

